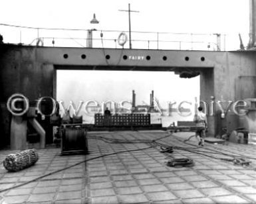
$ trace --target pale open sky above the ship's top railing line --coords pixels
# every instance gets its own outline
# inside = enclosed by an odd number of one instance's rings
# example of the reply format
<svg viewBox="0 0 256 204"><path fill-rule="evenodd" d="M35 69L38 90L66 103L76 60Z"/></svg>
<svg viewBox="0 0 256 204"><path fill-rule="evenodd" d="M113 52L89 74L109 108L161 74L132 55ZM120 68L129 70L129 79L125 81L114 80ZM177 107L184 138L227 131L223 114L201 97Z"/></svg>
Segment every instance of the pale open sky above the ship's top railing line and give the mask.
<svg viewBox="0 0 256 204"><path fill-rule="evenodd" d="M247 44L249 0L4 0L1 1L0 23L127 31L128 13L119 10L127 10L128 3L131 10L139 11L131 13L132 31L225 33L233 35L237 48L240 32ZM98 25L90 24L94 13L100 22ZM0 26L6 42L19 42L20 38L31 42L37 37L37 30L29 30L29 33L19 28L6 30L6 26ZM75 36L73 32L64 32L66 36ZM47 34L54 36L53 32Z"/></svg>

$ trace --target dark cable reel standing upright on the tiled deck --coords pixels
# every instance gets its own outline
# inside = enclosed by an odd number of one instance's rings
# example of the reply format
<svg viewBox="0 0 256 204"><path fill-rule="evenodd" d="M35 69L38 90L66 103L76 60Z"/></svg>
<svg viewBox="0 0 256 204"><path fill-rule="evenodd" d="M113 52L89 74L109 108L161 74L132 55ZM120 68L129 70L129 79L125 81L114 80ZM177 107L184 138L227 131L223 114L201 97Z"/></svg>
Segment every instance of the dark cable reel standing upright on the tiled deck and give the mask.
<svg viewBox="0 0 256 204"><path fill-rule="evenodd" d="M61 128L61 154L86 154L86 132L86 129L80 126Z"/></svg>

